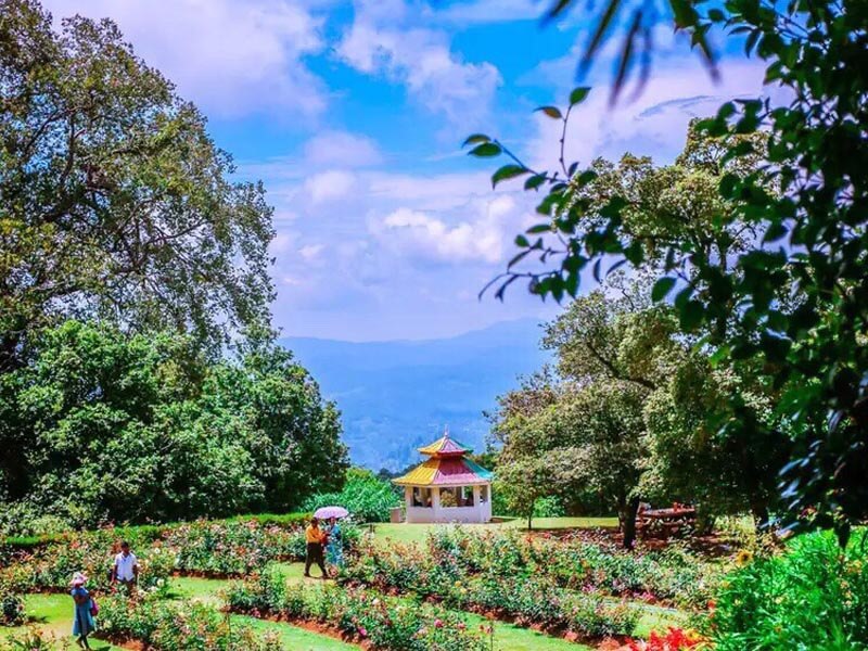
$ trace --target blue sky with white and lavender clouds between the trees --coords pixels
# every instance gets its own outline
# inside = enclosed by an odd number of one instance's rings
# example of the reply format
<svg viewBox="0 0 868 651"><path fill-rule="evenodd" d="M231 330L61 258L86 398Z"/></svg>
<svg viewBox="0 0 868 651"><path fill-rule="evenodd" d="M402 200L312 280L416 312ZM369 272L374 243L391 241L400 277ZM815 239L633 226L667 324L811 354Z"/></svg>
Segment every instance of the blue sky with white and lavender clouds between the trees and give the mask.
<svg viewBox="0 0 868 651"><path fill-rule="evenodd" d="M461 143L483 131L552 165L563 104L596 14L544 26L536 0L44 0L55 21L111 17L137 54L208 117L240 179L275 207L275 324L284 336L437 339L559 307L518 283L480 298L534 220L521 182ZM579 3L583 4L584 3ZM599 4L599 3L597 3ZM598 8L599 9L599 8ZM590 85L570 159L625 152L672 162L691 117L762 91L763 65L731 44L711 80L660 25L652 80L609 104L620 41ZM586 286L586 289L589 289Z"/></svg>

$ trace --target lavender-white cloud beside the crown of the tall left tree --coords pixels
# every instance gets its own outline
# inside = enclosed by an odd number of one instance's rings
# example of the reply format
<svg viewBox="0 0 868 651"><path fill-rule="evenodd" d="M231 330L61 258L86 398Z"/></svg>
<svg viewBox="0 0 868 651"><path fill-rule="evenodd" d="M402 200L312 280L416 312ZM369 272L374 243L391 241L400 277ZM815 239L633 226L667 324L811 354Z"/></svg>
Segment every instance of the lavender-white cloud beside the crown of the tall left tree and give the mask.
<svg viewBox="0 0 868 651"><path fill-rule="evenodd" d="M321 18L298 0L43 0L55 20L111 17L144 61L212 115L315 115L327 91L304 58Z"/></svg>

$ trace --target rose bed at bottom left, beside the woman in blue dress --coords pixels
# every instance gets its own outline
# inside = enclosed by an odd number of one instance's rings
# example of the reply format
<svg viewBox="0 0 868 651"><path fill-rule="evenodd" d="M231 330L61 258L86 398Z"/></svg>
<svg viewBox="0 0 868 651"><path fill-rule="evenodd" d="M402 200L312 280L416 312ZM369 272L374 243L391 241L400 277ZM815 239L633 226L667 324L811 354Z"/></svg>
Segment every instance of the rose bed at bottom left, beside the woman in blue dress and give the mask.
<svg viewBox="0 0 868 651"><path fill-rule="evenodd" d="M219 611L201 603L173 603L149 598L118 597L100 602L99 636L114 641L136 640L154 651L282 651L273 634L229 625Z"/></svg>

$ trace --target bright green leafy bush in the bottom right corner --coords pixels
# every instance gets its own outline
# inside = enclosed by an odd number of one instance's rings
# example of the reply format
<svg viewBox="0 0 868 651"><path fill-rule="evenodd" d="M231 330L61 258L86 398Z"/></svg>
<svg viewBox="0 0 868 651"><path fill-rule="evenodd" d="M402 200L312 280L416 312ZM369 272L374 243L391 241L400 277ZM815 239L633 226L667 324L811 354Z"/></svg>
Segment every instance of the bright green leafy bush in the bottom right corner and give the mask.
<svg viewBox="0 0 868 651"><path fill-rule="evenodd" d="M712 616L718 651L856 650L868 647L868 532L845 549L802 535L723 584Z"/></svg>

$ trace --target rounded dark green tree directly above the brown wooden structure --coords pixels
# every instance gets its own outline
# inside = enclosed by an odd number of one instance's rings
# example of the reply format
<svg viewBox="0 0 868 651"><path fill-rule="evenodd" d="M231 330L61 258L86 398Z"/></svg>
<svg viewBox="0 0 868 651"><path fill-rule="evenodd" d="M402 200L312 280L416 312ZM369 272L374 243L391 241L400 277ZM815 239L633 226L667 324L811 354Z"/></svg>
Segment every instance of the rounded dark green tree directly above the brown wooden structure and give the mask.
<svg viewBox="0 0 868 651"><path fill-rule="evenodd" d="M729 397L756 421L750 436L723 433L733 418ZM790 442L774 410L774 394L745 365L713 367L699 353L663 379L644 405L647 447L641 493L693 503L710 524L749 512L757 526L778 507L778 470Z"/></svg>

